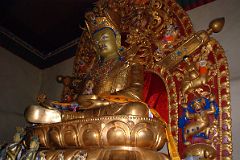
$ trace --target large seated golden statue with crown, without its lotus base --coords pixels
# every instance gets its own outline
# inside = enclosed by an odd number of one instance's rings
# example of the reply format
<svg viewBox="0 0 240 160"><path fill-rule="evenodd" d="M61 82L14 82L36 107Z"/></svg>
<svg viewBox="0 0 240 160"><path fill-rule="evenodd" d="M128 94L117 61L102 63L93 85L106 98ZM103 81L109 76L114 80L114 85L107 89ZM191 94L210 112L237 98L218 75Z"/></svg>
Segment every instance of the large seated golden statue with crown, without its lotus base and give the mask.
<svg viewBox="0 0 240 160"><path fill-rule="evenodd" d="M83 111L60 112L43 105L33 105L25 111L27 121L56 123L110 115L148 117L149 109L141 97L143 66L137 61L120 60L120 34L108 21L106 17L96 17L97 24L88 23L99 61L89 73L88 78L93 81L94 94L78 95L76 100Z"/></svg>

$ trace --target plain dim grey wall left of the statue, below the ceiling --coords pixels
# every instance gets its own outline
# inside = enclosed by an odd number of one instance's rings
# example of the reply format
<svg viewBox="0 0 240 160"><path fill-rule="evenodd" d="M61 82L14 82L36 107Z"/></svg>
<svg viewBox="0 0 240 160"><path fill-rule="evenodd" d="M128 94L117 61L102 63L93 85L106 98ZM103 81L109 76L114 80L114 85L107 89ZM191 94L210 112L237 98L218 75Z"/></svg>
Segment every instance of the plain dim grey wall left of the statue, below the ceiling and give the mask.
<svg viewBox="0 0 240 160"><path fill-rule="evenodd" d="M0 143L25 126L24 108L35 103L42 71L0 47Z"/></svg>

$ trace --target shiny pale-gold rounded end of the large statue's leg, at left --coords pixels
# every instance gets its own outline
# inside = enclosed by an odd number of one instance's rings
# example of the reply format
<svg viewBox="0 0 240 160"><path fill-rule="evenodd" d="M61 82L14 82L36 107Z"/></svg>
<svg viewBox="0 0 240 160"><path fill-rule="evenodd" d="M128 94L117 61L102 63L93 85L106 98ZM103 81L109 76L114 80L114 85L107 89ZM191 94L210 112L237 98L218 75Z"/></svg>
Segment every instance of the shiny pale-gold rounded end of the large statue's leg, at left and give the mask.
<svg viewBox="0 0 240 160"><path fill-rule="evenodd" d="M24 116L30 123L57 123L61 122L61 112L47 109L40 105L31 105L25 109Z"/></svg>

